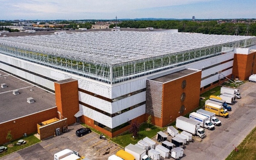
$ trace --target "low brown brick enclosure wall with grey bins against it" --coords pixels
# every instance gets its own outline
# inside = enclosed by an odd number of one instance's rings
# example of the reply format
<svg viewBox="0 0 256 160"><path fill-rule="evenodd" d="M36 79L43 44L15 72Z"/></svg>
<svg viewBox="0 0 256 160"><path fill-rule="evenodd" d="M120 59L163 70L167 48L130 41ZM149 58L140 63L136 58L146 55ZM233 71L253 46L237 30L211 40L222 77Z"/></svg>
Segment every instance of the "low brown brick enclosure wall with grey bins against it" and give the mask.
<svg viewBox="0 0 256 160"><path fill-rule="evenodd" d="M54 122L54 123L47 124L47 125L44 125L42 127L39 127L40 140L44 140L46 138L54 136L56 128L60 128L60 132L63 132L62 131L62 127L63 126L68 126L67 122L68 122L67 118L64 118L64 119L59 120L57 122Z"/></svg>

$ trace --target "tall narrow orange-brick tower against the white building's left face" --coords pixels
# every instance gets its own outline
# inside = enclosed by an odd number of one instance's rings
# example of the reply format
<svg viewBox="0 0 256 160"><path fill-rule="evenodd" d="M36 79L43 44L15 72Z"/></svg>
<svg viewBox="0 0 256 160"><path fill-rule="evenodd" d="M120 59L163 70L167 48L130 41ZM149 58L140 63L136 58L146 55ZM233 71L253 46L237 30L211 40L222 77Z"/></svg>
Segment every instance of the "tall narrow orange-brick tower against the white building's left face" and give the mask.
<svg viewBox="0 0 256 160"><path fill-rule="evenodd" d="M74 115L79 111L77 80L62 84L55 82L54 86L58 111L61 116L68 118L68 125L75 123Z"/></svg>

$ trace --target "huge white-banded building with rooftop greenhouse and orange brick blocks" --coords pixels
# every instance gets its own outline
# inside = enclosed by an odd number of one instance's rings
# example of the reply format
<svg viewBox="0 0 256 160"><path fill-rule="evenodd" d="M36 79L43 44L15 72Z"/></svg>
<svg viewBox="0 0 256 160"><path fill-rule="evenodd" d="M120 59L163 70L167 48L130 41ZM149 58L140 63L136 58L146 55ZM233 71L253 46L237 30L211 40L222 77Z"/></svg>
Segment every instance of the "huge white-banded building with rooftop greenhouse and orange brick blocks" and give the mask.
<svg viewBox="0 0 256 160"><path fill-rule="evenodd" d="M248 79L254 49L254 36L154 31L3 37L0 69L54 92L68 124L114 137L149 115L170 124L225 76Z"/></svg>

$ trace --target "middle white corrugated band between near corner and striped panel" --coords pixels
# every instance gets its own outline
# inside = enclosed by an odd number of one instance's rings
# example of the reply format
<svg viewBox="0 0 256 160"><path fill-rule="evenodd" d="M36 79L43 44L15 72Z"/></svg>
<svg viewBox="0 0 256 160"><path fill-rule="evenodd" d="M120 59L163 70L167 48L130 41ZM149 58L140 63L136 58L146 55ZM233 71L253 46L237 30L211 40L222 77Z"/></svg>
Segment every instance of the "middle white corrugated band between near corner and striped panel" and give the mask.
<svg viewBox="0 0 256 160"><path fill-rule="evenodd" d="M120 110L134 106L144 101L146 101L146 91L124 98L122 100L118 100L116 102L112 102L112 113L116 113Z"/></svg>

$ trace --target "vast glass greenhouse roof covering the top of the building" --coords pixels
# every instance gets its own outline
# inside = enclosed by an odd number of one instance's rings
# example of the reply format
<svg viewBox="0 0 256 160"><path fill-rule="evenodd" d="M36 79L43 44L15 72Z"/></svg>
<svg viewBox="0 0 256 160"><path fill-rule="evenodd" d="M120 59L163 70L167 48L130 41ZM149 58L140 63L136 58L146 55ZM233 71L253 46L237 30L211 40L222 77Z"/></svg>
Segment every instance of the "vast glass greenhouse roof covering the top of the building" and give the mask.
<svg viewBox="0 0 256 160"><path fill-rule="evenodd" d="M64 35L26 34L27 36L1 37L0 44L110 66L250 38L256 39L255 36L164 33L146 29L143 30L145 32L93 30L96 32L71 31L71 34Z"/></svg>

